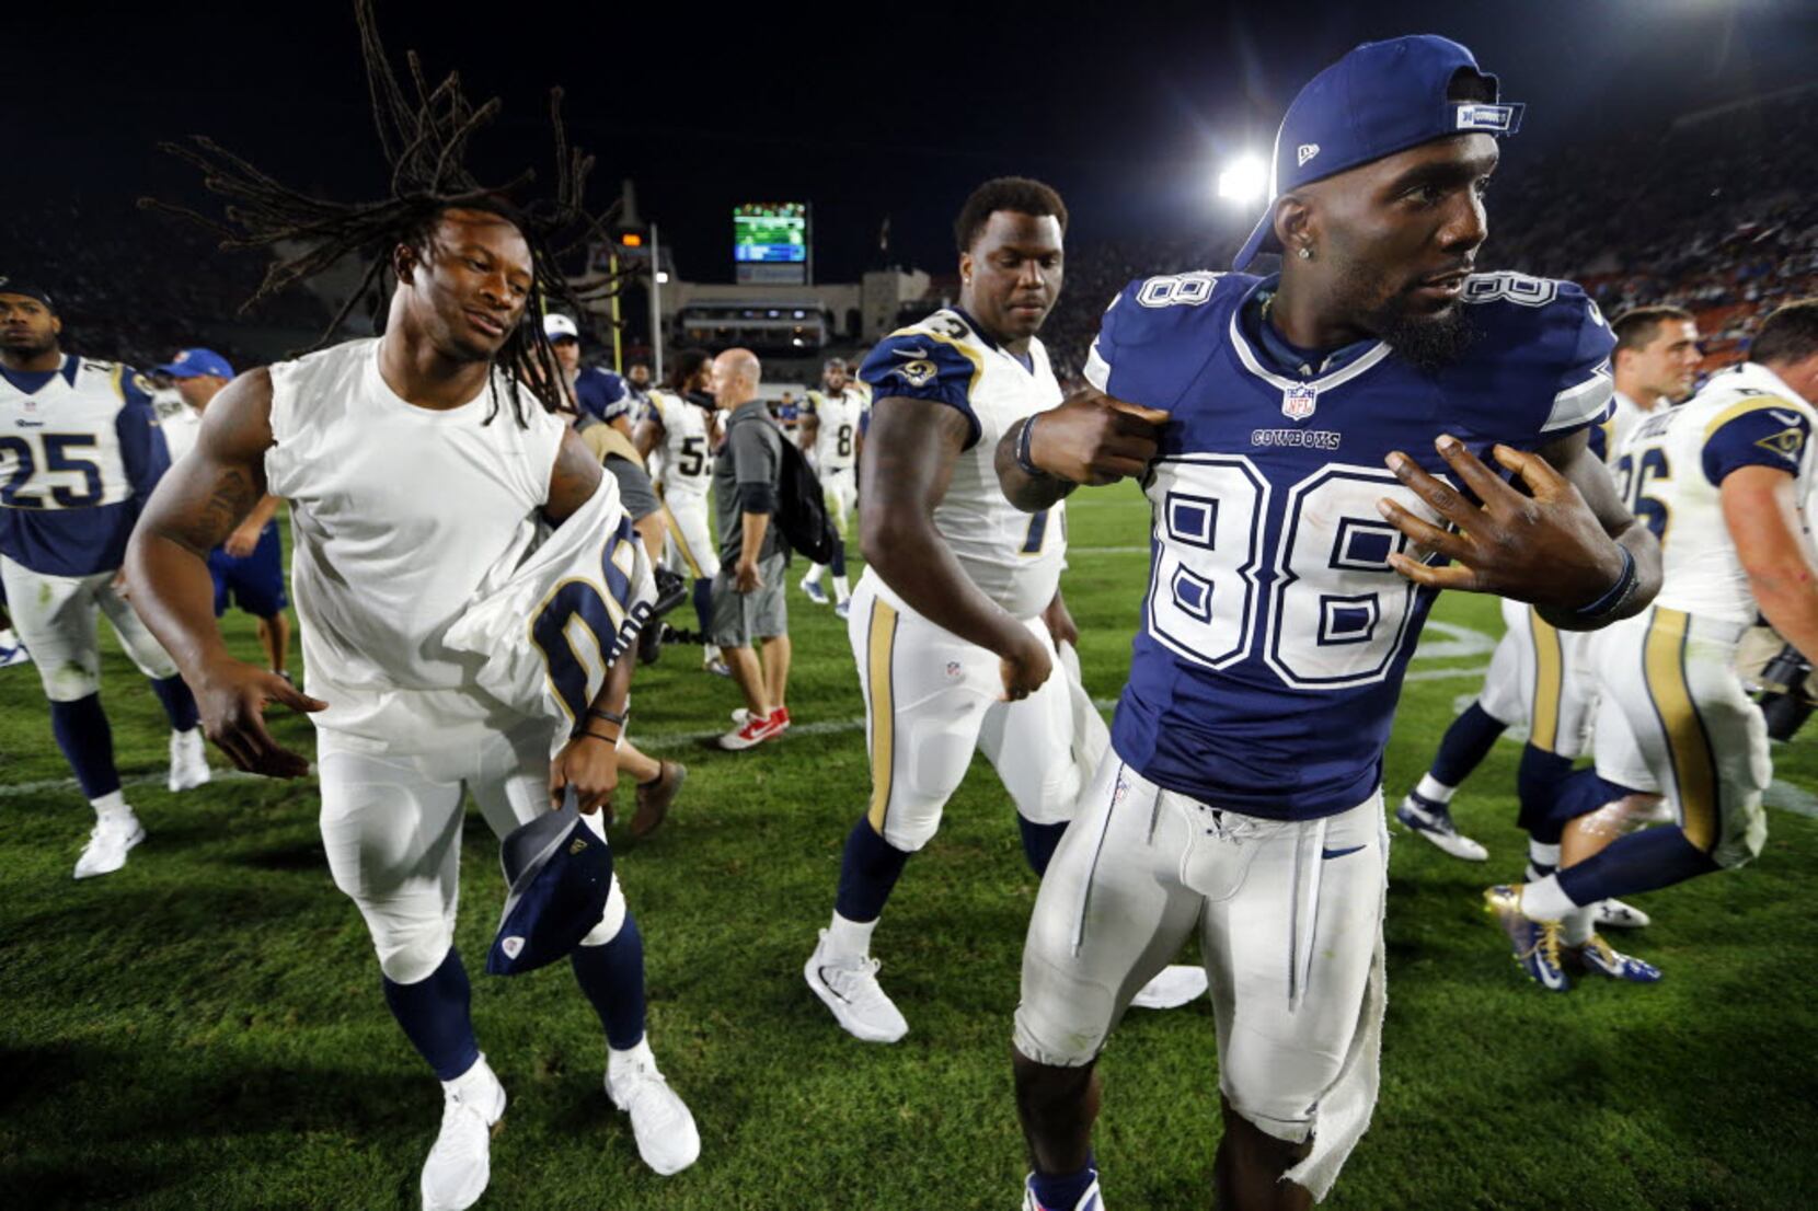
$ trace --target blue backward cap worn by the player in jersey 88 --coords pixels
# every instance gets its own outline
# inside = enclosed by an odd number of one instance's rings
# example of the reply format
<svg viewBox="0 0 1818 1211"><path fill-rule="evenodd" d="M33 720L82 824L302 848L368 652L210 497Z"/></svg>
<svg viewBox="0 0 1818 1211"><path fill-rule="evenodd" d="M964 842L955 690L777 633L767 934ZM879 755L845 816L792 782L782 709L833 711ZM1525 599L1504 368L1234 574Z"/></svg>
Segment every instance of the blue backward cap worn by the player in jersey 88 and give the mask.
<svg viewBox="0 0 1818 1211"><path fill-rule="evenodd" d="M1460 71L1489 80L1498 100L1447 100ZM1231 267L1244 269L1258 253L1282 251L1274 238L1274 200L1284 193L1447 135L1514 135L1523 109L1503 104L1496 76L1480 71L1471 51L1451 38L1409 35L1365 42L1313 76L1287 107L1274 136L1269 207Z"/></svg>

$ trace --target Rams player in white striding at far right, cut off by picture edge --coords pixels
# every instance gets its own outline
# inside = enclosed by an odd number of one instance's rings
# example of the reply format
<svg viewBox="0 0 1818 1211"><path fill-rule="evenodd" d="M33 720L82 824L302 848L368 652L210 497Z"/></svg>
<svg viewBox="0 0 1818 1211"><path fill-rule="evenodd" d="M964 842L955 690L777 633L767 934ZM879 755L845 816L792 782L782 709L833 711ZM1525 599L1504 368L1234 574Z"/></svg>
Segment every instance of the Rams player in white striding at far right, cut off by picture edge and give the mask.
<svg viewBox="0 0 1818 1211"><path fill-rule="evenodd" d="M1756 615L1807 660L1818 655L1818 562L1805 531L1818 415L1818 300L1763 320L1749 360L1691 402L1642 420L1616 456L1636 516L1660 535L1653 607L1598 636L1596 769L1560 795L1567 840L1589 827L1589 856L1525 886L1493 887L1489 907L1516 958L1565 991L1562 958L1649 982L1660 973L1609 949L1587 907L1734 869L1762 851L1771 778L1767 729L1736 675L1736 644ZM1674 827L1613 836L1598 807L1662 793ZM1583 815L1589 813L1589 815Z"/></svg>

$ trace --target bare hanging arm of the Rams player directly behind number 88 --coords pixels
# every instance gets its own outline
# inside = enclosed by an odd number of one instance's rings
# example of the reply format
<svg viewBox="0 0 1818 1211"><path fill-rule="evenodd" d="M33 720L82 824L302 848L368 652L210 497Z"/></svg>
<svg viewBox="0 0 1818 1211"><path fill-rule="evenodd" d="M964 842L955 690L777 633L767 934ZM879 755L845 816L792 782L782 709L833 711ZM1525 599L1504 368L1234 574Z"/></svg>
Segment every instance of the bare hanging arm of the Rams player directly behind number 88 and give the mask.
<svg viewBox="0 0 1818 1211"><path fill-rule="evenodd" d="M934 529L934 507L947 495L971 422L931 400L891 396L871 413L864 449L865 496L858 542L884 584L924 618L1002 658L1004 695L1034 693L1051 660L1029 627L978 591Z"/></svg>

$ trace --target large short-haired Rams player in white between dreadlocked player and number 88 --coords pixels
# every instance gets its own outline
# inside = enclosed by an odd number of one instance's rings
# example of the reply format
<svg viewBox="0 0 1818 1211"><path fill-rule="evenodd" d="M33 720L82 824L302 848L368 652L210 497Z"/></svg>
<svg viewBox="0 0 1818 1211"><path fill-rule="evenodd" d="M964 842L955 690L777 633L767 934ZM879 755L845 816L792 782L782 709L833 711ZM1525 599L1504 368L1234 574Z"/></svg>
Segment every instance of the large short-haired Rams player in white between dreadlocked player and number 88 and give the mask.
<svg viewBox="0 0 1818 1211"><path fill-rule="evenodd" d="M1065 222L1040 182L974 189L954 224L958 307L891 335L860 369L878 404L860 511L867 565L847 635L865 695L871 806L847 835L833 922L804 975L867 1042L909 1029L878 987L871 933L973 753L1014 800L1038 875L1080 795L1089 736L1074 726L1076 676L1049 676L1056 644L1076 638L1060 596L1064 505L1020 513L991 469L1005 427L1060 398L1034 333L1060 295ZM1204 987L1185 975L1174 1004Z"/></svg>

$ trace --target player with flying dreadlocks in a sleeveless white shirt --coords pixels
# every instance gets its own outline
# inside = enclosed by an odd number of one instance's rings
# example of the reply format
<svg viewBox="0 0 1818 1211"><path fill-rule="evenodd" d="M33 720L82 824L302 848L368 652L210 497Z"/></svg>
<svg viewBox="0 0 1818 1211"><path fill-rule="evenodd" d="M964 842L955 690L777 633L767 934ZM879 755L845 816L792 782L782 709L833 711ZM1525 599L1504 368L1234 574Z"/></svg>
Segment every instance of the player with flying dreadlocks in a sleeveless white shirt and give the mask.
<svg viewBox="0 0 1818 1211"><path fill-rule="evenodd" d="M573 402L534 320L545 296L567 298L553 255L560 236L596 229L582 209L591 162L564 142L560 95L556 196L514 204L509 196L527 176L489 189L464 167L469 136L498 102L471 105L453 75L431 87L415 55L405 95L378 44L371 0L356 0L356 11L391 165L384 200L305 196L204 138L182 155L229 200L227 222L213 224L224 247L291 249L275 258L260 295L345 255L371 256L360 295L384 302L375 313L382 335L229 384L195 451L149 502L127 571L133 604L196 689L209 738L236 766L304 775L305 758L273 740L262 711L275 700L311 713L329 867L373 935L385 1004L444 1084L424 1207L467 1207L485 1191L505 1093L474 1040L467 973L453 947L464 791L500 835L573 791L600 833L633 660L620 658L591 702L564 707L576 727L556 746L547 718L507 709L487 693L491 682L480 689L471 649L456 649L451 629L484 596L489 573L514 565L538 520L554 527L549 544L589 544L605 584L614 576L598 551L611 553L607 564L636 555L600 460L558 416ZM213 618L207 551L267 491L291 507L307 695L229 656ZM616 580L618 600L602 602L613 622L629 609L627 576ZM569 622L594 626L585 611L569 613L556 620L556 638ZM496 644L527 644L524 622L520 615L514 636L500 633ZM609 636L600 638L609 651ZM578 662L567 642L538 656L551 684L573 671L556 667L556 651ZM545 680L542 664L534 680ZM644 1036L644 944L616 880L571 962L605 1027L607 1095L629 1111L653 1169L684 1169L700 1136Z"/></svg>

